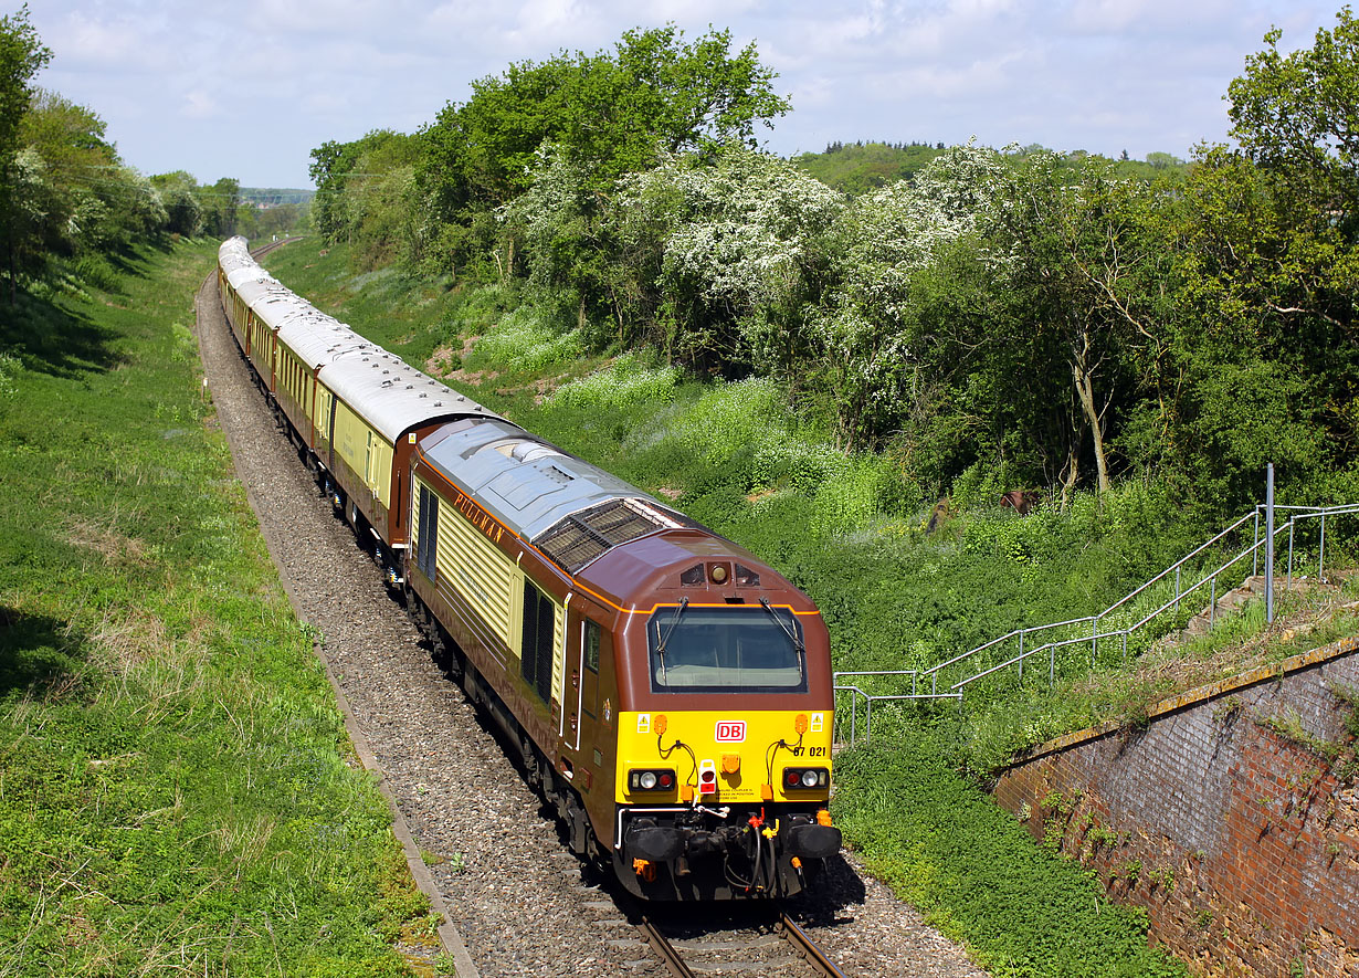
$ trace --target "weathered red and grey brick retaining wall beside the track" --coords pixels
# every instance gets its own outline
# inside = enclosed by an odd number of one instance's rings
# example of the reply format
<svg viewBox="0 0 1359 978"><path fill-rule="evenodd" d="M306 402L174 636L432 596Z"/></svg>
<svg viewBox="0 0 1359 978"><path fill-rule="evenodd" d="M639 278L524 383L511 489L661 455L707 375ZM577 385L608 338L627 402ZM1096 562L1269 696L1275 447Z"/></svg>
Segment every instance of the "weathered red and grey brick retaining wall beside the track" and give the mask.
<svg viewBox="0 0 1359 978"><path fill-rule="evenodd" d="M1207 975L1359 975L1359 792L1309 748L1347 740L1359 640L1044 744L996 800L1147 909Z"/></svg>

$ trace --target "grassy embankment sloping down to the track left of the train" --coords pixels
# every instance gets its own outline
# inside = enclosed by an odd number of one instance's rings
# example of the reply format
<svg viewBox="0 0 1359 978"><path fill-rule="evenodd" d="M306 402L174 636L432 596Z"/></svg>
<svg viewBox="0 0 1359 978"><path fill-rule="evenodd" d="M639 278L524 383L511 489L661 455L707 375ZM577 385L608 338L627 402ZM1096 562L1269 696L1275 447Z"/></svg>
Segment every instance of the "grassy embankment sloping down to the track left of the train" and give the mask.
<svg viewBox="0 0 1359 978"><path fill-rule="evenodd" d="M215 251L0 312L0 974L409 974L427 903L200 384Z"/></svg>

